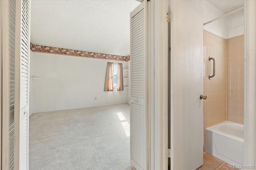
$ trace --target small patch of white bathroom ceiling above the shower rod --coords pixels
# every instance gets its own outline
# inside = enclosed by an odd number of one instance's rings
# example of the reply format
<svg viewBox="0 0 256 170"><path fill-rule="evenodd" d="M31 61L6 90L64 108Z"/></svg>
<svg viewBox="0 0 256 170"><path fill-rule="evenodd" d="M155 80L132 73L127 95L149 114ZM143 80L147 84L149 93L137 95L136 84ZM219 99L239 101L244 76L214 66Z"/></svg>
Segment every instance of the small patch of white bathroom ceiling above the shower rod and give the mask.
<svg viewBox="0 0 256 170"><path fill-rule="evenodd" d="M242 6L244 6L244 0L206 0L209 4L227 14Z"/></svg>

